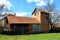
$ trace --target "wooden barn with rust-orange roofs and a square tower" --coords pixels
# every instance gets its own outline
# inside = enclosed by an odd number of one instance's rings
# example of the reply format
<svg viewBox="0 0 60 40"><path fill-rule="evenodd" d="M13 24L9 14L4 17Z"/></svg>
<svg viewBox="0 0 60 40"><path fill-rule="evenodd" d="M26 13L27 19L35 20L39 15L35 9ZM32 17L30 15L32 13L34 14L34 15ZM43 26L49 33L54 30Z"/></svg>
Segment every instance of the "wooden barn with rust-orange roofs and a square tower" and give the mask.
<svg viewBox="0 0 60 40"><path fill-rule="evenodd" d="M9 14L3 18L3 31L13 33L49 32L49 13L35 8L32 17L21 17Z"/></svg>

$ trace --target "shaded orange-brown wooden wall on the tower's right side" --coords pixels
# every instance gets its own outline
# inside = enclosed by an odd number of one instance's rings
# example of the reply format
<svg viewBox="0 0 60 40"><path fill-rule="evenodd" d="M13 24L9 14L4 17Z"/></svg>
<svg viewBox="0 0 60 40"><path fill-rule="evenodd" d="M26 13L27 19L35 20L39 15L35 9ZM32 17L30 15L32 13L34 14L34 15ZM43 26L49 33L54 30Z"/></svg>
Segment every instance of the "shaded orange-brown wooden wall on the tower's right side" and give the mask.
<svg viewBox="0 0 60 40"><path fill-rule="evenodd" d="M42 32L49 31L49 15L42 13L41 14L41 25L42 25Z"/></svg>

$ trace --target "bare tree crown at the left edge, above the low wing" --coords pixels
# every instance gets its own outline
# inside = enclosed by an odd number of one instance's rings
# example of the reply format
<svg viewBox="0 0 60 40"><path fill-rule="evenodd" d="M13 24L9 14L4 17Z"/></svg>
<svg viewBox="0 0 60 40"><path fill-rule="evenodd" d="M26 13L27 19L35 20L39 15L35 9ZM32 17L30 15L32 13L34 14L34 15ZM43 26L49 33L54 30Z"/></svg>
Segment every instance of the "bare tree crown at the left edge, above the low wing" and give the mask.
<svg viewBox="0 0 60 40"><path fill-rule="evenodd" d="M0 17L5 17L7 16L10 12L12 12L11 10L9 10L6 5L4 4L0 4ZM2 15L2 13L4 13ZM13 13L14 15L16 15L16 13Z"/></svg>

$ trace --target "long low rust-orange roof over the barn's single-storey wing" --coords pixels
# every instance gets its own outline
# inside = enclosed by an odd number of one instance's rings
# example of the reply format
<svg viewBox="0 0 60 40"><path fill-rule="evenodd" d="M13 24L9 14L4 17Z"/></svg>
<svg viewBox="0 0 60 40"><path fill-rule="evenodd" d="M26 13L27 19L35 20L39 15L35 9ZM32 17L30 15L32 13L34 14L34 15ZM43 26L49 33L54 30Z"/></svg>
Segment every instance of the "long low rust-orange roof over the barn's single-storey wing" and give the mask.
<svg viewBox="0 0 60 40"><path fill-rule="evenodd" d="M29 17L7 16L7 19L9 24L39 23L36 19Z"/></svg>

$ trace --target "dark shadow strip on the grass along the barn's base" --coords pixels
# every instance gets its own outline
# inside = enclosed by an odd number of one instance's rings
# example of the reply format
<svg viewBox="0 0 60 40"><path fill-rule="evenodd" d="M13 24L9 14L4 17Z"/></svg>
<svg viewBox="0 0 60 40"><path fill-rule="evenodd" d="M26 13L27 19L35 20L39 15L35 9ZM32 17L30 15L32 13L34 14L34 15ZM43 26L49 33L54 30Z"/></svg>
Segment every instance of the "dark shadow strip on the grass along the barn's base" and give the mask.
<svg viewBox="0 0 60 40"><path fill-rule="evenodd" d="M49 34L49 33L60 33L60 30L50 30L49 32L39 32L39 33L12 33L12 32L2 32L1 35L35 35L35 34Z"/></svg>

